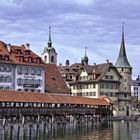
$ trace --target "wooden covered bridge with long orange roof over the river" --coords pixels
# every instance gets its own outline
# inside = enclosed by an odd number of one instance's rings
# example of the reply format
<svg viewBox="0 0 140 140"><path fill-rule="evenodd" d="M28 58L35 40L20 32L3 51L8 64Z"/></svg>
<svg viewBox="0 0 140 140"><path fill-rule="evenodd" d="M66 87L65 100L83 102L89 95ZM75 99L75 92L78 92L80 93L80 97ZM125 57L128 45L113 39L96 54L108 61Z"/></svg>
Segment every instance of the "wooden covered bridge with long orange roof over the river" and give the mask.
<svg viewBox="0 0 140 140"><path fill-rule="evenodd" d="M112 115L112 104L106 98L84 98L56 94L0 91L0 118L24 124L27 121L54 122L66 118L102 118Z"/></svg>

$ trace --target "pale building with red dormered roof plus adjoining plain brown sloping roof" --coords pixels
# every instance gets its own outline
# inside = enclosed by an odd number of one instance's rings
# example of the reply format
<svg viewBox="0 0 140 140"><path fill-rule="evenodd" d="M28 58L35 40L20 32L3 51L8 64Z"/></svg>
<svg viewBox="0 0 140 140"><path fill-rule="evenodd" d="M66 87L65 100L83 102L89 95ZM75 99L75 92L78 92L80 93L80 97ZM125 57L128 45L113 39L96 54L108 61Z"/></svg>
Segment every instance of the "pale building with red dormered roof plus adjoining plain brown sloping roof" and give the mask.
<svg viewBox="0 0 140 140"><path fill-rule="evenodd" d="M46 64L30 50L0 41L0 90L70 95L55 64Z"/></svg>

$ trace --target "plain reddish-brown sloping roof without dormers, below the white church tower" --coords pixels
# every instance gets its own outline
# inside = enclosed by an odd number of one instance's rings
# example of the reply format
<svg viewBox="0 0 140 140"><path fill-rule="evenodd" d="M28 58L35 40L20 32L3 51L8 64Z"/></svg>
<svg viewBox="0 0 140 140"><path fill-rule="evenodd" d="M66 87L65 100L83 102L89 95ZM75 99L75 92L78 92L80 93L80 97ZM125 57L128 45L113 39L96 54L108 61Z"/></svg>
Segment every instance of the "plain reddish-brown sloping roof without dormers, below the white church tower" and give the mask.
<svg viewBox="0 0 140 140"><path fill-rule="evenodd" d="M64 82L55 64L45 65L45 87L48 93L69 94L70 91Z"/></svg>

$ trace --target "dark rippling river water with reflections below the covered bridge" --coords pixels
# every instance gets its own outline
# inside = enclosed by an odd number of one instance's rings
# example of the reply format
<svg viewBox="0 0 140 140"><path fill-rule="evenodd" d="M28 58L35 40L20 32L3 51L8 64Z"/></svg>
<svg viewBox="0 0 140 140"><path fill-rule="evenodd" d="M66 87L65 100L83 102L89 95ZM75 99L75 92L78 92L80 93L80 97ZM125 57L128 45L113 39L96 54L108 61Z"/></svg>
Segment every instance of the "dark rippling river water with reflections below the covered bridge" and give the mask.
<svg viewBox="0 0 140 140"><path fill-rule="evenodd" d="M0 127L0 140L140 140L140 122Z"/></svg>

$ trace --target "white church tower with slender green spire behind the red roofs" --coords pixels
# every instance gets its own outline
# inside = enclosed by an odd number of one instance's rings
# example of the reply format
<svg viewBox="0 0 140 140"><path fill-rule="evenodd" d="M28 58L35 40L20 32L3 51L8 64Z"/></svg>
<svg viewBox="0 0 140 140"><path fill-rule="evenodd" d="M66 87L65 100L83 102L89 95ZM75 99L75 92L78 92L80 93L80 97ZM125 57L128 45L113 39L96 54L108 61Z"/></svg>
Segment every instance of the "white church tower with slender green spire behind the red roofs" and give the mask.
<svg viewBox="0 0 140 140"><path fill-rule="evenodd" d="M42 57L45 63L57 64L57 53L55 51L55 48L52 47L51 27L49 27L48 46L44 48Z"/></svg>

